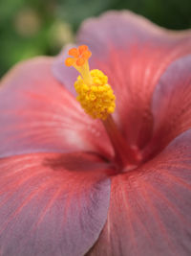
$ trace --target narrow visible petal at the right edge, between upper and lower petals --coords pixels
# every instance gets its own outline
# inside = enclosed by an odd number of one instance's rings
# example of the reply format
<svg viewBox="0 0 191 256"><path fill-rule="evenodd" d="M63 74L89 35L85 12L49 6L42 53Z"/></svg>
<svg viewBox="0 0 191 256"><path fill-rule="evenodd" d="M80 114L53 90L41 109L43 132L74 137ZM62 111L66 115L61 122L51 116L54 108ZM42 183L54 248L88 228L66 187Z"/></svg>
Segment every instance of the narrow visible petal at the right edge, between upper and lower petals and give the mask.
<svg viewBox="0 0 191 256"><path fill-rule="evenodd" d="M154 137L145 150L147 154L161 151L191 128L190 70L191 55L172 63L160 78L153 97Z"/></svg>

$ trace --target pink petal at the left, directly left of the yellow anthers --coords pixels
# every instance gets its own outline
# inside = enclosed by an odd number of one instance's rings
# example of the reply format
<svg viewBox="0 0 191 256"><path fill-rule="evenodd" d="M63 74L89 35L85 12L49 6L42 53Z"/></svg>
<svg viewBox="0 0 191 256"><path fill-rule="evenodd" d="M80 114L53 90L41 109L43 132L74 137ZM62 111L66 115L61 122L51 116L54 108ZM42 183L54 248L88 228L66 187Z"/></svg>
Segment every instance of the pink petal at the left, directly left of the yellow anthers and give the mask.
<svg viewBox="0 0 191 256"><path fill-rule="evenodd" d="M34 58L18 64L1 82L0 156L79 150L112 154L104 128L55 81L52 63L53 58Z"/></svg>

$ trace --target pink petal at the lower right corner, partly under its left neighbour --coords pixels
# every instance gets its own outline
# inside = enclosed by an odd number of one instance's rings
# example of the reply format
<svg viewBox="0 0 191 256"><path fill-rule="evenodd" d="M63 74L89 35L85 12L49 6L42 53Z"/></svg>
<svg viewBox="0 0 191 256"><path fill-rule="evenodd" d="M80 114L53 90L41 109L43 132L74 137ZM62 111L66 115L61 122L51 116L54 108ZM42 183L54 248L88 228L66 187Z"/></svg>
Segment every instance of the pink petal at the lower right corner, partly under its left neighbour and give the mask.
<svg viewBox="0 0 191 256"><path fill-rule="evenodd" d="M191 130L113 178L107 223L88 255L191 255Z"/></svg>

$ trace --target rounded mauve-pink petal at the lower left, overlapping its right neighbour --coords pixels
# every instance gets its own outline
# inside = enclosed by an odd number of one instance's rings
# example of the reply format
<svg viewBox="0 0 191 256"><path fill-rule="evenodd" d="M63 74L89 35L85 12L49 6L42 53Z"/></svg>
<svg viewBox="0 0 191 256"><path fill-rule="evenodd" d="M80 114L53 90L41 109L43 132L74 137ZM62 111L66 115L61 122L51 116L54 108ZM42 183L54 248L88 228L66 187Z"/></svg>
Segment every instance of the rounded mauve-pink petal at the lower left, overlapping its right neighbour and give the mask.
<svg viewBox="0 0 191 256"><path fill-rule="evenodd" d="M1 255L84 255L107 218L106 170L84 153L1 159Z"/></svg>

